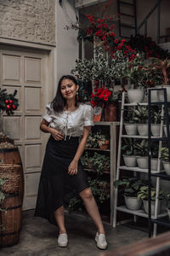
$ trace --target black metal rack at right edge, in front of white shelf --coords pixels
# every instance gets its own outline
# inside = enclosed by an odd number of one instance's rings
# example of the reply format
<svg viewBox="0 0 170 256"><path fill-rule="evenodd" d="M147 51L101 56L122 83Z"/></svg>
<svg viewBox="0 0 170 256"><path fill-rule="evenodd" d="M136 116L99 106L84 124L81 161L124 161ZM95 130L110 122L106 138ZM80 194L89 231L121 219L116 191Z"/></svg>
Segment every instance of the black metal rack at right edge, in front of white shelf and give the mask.
<svg viewBox="0 0 170 256"><path fill-rule="evenodd" d="M164 95L164 102L151 102L151 91L153 90L163 90L163 95ZM161 89L150 89L148 91L148 182L149 182L149 237L151 236L151 224L154 224L154 232L153 236L156 236L156 230L157 230L157 224L165 225L167 227L170 227L170 222L162 217L158 218L157 216L157 205L158 205L158 195L159 195L159 188L160 188L160 178L170 180L170 177L165 174L165 172L160 172L160 173L153 173L150 170L150 147L151 143L153 142L153 138L151 137L151 124L150 124L150 108L151 106L154 105L161 105L161 117L164 117L164 113L166 116L166 124L167 124L167 137L162 137L162 127L161 127L161 134L160 137L157 138L157 140L160 142L160 145L162 145L162 142L165 141L167 142L167 146L169 149L169 159L170 159L170 132L169 132L169 119L168 119L168 103L167 103L167 90L164 88ZM163 108L164 107L164 108ZM163 123L163 120L161 120ZM161 157L161 153L159 150L159 155L158 157ZM152 218L151 216L151 200L150 200L150 189L151 189L151 177L156 177L156 210L155 210L155 218Z"/></svg>

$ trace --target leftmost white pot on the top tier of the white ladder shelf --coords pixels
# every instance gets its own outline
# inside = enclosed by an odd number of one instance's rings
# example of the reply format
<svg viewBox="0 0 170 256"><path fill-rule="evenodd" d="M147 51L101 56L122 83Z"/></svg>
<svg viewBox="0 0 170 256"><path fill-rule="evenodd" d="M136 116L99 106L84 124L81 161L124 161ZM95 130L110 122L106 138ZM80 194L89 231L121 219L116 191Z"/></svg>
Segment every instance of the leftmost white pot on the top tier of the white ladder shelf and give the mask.
<svg viewBox="0 0 170 256"><path fill-rule="evenodd" d="M143 89L128 89L127 98L130 103L142 103L144 101Z"/></svg>

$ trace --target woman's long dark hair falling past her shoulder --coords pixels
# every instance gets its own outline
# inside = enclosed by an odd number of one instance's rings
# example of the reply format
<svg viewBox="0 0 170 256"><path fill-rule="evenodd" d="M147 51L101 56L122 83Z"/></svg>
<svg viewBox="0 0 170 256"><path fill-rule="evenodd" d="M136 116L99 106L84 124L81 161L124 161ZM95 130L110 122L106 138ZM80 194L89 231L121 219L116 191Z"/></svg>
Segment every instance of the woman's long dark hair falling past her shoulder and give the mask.
<svg viewBox="0 0 170 256"><path fill-rule="evenodd" d="M62 112L66 106L66 100L61 94L61 83L64 79L70 79L74 84L77 85L77 79L71 75L64 75L59 79L59 84L57 88L56 95L54 96L54 100L51 102L51 108L54 108L56 112ZM78 106L78 98L75 98L75 107Z"/></svg>

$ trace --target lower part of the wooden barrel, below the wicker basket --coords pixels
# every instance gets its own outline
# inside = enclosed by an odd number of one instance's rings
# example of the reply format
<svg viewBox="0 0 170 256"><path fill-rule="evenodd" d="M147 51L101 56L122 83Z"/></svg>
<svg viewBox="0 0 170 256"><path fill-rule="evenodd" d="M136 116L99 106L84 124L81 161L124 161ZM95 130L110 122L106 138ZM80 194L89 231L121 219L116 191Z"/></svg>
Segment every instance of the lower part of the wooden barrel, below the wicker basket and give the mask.
<svg viewBox="0 0 170 256"><path fill-rule="evenodd" d="M6 194L0 211L0 247L9 247L18 243L21 225L20 195Z"/></svg>

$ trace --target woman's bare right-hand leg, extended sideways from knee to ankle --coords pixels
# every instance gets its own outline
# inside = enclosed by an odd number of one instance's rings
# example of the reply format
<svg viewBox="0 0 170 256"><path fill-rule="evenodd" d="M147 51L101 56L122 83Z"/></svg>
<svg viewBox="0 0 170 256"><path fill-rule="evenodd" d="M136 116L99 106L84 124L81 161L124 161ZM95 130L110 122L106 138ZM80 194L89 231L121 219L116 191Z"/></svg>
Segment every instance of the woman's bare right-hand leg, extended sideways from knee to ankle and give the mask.
<svg viewBox="0 0 170 256"><path fill-rule="evenodd" d="M104 226L99 215L99 209L96 201L94 200L94 195L92 195L91 189L84 189L79 195L82 197L82 201L84 202L88 214L94 220L94 224L96 225L99 234L105 234Z"/></svg>

